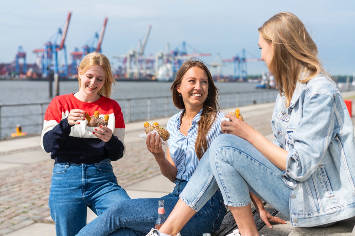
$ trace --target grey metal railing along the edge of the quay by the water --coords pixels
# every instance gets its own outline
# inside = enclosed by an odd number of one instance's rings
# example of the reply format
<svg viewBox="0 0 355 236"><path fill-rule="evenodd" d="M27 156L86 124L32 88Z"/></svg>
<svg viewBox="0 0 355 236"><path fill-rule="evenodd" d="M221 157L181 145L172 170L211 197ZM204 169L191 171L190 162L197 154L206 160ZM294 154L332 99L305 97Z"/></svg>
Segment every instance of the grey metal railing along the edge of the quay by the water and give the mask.
<svg viewBox="0 0 355 236"><path fill-rule="evenodd" d="M353 91L355 86L344 91ZM344 92L342 91L342 92ZM278 90L257 90L247 92L229 92L219 94L221 109L240 107L250 104L274 102ZM121 106L126 123L149 121L158 117L176 114L171 96L115 99ZM0 140L15 133L16 126L21 126L27 134L42 132L44 113L49 103L29 103L0 105Z"/></svg>

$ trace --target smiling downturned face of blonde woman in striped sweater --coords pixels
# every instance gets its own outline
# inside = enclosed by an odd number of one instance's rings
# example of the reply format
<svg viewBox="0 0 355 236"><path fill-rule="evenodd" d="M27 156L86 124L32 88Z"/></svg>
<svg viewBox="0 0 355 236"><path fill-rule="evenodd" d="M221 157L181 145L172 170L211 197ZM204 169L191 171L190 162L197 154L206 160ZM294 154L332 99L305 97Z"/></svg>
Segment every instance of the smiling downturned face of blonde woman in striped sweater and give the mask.
<svg viewBox="0 0 355 236"><path fill-rule="evenodd" d="M80 93L83 97L99 98L98 92L105 84L106 72L100 65L92 65L84 73L80 74ZM97 100L96 99L96 100Z"/></svg>

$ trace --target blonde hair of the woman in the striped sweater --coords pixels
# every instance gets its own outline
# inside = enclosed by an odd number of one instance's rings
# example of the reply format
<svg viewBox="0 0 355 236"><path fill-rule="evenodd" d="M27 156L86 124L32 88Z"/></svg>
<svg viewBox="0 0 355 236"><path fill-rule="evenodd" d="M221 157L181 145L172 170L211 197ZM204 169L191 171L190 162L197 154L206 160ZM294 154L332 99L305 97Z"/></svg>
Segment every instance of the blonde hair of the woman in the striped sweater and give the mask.
<svg viewBox="0 0 355 236"><path fill-rule="evenodd" d="M92 65L99 65L101 66L105 72L105 84L102 86L102 88L99 90L98 94L101 96L105 96L110 98L112 94L112 85L115 86L115 78L112 74L111 70L111 65L109 59L102 53L98 52L92 52L87 54L80 62L80 65L78 66L78 80L79 80L79 90L81 87L81 79L80 75L83 75L86 73L86 71L92 66ZM115 86L116 88L116 86Z"/></svg>

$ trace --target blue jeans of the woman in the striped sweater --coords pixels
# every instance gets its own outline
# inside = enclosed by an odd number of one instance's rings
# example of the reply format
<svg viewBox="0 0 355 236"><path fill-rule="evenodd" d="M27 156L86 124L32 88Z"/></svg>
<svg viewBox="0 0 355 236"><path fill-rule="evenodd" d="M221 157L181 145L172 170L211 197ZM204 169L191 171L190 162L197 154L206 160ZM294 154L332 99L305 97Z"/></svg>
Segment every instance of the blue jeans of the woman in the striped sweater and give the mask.
<svg viewBox="0 0 355 236"><path fill-rule="evenodd" d="M118 185L109 159L95 164L54 165L49 208L57 235L76 235L86 225L87 207L97 215L130 199Z"/></svg>

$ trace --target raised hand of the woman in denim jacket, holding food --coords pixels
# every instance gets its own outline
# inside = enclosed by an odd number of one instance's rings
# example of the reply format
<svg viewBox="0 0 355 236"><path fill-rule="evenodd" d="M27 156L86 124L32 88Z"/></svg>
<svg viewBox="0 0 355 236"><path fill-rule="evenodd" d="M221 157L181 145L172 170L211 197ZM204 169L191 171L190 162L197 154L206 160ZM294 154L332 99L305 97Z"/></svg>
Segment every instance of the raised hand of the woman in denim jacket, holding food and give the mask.
<svg viewBox="0 0 355 236"><path fill-rule="evenodd" d="M248 140L248 138L255 132L253 127L244 121L237 119L234 115L226 114L224 117L229 118L230 121L221 122L222 133L234 134L235 136Z"/></svg>

